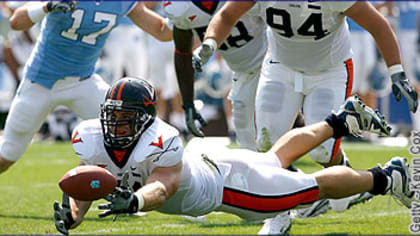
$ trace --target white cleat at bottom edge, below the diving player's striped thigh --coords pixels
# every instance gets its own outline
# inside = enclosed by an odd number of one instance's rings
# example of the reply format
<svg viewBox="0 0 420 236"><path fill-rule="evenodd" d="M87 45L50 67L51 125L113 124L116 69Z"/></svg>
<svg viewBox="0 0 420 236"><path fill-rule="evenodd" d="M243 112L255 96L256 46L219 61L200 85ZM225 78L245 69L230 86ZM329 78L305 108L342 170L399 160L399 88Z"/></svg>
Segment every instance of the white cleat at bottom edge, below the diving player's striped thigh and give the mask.
<svg viewBox="0 0 420 236"><path fill-rule="evenodd" d="M274 218L264 220L264 225L258 235L279 235L289 232L292 227L292 219L289 215L290 211L278 214Z"/></svg>

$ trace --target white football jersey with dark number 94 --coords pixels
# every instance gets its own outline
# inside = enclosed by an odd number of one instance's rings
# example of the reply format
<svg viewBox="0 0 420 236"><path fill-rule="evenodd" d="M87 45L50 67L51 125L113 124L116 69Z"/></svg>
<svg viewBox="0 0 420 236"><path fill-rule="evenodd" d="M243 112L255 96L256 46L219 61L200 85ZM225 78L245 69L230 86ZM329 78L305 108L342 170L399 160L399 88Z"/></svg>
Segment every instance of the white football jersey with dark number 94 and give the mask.
<svg viewBox="0 0 420 236"><path fill-rule="evenodd" d="M354 1L260 1L272 60L300 72L322 72L351 57L343 12Z"/></svg>

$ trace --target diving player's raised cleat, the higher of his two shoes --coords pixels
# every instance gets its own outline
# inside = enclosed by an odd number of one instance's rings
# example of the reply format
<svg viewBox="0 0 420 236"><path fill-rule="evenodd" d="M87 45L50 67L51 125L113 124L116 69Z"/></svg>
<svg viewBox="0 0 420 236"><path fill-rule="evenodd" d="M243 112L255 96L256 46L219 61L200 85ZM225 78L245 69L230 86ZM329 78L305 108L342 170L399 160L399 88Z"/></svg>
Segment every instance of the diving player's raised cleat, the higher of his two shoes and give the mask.
<svg viewBox="0 0 420 236"><path fill-rule="evenodd" d="M363 104L357 96L347 98L335 114L344 120L349 133L355 137L360 137L362 131L390 135L391 126L385 121L385 117L378 110L374 111Z"/></svg>

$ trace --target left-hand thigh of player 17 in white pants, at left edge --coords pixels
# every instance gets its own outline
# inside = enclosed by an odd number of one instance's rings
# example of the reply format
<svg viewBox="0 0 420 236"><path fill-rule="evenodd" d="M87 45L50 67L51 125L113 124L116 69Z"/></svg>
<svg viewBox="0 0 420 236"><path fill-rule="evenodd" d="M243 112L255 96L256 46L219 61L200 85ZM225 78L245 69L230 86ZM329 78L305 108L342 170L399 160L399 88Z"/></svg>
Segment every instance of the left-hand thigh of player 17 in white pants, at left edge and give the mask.
<svg viewBox="0 0 420 236"><path fill-rule="evenodd" d="M6 119L0 155L11 161L23 155L52 109L50 98L49 89L27 79L22 82Z"/></svg>

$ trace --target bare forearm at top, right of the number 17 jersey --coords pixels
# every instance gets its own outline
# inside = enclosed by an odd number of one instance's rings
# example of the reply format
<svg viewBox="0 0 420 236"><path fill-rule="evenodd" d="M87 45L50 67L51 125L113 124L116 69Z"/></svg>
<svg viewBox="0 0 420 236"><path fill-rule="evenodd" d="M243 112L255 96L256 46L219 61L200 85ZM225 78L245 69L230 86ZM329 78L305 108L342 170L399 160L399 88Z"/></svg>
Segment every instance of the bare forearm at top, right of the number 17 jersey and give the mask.
<svg viewBox="0 0 420 236"><path fill-rule="evenodd" d="M134 24L156 39L160 41L172 40L172 31L167 25L167 20L150 10L144 2L138 2L128 17Z"/></svg>

